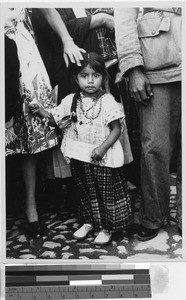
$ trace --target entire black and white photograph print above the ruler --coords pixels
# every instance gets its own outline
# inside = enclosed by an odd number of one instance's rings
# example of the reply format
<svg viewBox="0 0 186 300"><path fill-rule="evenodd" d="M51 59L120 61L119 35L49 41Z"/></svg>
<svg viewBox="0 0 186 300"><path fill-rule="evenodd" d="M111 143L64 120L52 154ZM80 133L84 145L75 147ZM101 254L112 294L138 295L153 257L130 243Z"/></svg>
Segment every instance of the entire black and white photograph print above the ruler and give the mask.
<svg viewBox="0 0 186 300"><path fill-rule="evenodd" d="M183 261L184 3L127 3L1 6L9 262Z"/></svg>

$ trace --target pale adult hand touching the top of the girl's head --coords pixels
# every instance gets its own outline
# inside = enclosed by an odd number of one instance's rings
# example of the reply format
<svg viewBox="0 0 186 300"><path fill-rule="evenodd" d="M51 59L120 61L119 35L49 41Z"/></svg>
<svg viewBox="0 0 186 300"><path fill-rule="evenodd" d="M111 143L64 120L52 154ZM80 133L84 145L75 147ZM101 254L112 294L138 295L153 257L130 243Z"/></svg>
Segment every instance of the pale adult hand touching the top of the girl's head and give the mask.
<svg viewBox="0 0 186 300"><path fill-rule="evenodd" d="M75 63L78 66L81 66L81 60L83 60L82 53L86 51L82 48L79 48L73 41L73 39L68 39L64 42L63 48L63 58L68 68L69 63Z"/></svg>

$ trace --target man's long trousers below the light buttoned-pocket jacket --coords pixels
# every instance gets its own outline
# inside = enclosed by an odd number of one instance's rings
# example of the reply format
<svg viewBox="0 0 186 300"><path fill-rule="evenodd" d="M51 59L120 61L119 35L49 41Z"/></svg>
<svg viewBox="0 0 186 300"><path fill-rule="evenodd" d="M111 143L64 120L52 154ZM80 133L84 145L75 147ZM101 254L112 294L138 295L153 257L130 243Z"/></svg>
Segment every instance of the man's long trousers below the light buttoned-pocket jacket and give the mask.
<svg viewBox="0 0 186 300"><path fill-rule="evenodd" d="M149 105L141 105L140 111L141 223L155 229L163 225L169 208L170 159L175 141L181 137L181 83L152 85L152 88Z"/></svg>

